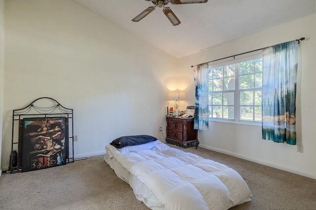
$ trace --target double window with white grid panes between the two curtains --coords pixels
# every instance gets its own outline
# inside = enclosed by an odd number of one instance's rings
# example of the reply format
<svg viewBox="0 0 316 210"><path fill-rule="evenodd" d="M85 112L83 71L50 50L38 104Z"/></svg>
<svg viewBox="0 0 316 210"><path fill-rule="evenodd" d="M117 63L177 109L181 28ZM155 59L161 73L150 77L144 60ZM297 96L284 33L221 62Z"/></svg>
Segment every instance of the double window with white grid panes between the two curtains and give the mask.
<svg viewBox="0 0 316 210"><path fill-rule="evenodd" d="M209 118L261 122L261 54L209 65L208 70Z"/></svg>

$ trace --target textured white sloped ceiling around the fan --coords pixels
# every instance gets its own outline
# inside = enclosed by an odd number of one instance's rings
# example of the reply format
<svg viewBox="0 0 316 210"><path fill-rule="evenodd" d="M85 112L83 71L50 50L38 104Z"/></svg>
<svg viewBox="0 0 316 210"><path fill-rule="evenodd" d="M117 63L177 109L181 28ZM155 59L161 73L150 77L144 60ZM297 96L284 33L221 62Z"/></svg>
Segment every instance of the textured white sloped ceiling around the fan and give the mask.
<svg viewBox="0 0 316 210"><path fill-rule="evenodd" d="M74 0L176 58L266 30L316 12L316 0L208 0L171 4L172 26L161 8L131 20L154 4L146 0Z"/></svg>

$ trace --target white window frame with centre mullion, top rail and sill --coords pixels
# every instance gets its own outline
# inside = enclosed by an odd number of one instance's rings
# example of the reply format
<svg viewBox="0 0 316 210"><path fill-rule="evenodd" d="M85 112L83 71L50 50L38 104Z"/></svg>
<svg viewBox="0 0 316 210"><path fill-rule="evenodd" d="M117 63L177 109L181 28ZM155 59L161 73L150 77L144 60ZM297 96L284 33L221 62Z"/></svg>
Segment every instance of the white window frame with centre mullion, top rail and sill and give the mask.
<svg viewBox="0 0 316 210"><path fill-rule="evenodd" d="M232 65L240 62L245 62L249 60L256 60L262 59L262 53L252 56L243 57L240 59L234 59L224 62L218 62L215 64L208 64L208 69L217 68L226 65ZM254 81L254 88L253 89L246 89L246 90L239 90L239 68L235 69L235 97L234 97L234 120L231 119L223 119L223 118L208 118L209 121L221 121L221 122L231 122L231 123L238 123L238 124L252 124L252 125L260 125L262 124L261 121L250 121L250 120L240 120L240 92L241 91L253 91L253 90L262 90L261 88L255 88L255 81ZM255 100L255 98L253 98ZM255 107L255 105L253 105Z"/></svg>

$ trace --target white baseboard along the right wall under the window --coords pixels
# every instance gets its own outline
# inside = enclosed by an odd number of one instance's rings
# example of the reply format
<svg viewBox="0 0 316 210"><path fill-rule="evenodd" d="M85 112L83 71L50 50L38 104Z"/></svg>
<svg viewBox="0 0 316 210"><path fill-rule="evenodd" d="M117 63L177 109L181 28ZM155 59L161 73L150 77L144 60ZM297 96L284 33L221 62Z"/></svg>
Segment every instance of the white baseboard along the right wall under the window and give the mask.
<svg viewBox="0 0 316 210"><path fill-rule="evenodd" d="M241 158L241 159L244 159L244 160L249 160L251 162L259 163L259 164L262 164L262 165L265 165L265 166L269 166L269 167L272 167L272 168L280 169L280 170L287 171L287 172L290 172L290 173L293 173L293 174L298 174L298 175L301 175L301 176L304 176L304 177L316 179L316 175L315 174L309 174L309 173L306 173L306 172L303 172L303 171L299 171L299 170L296 170L296 169L284 167L284 166L281 166L281 165L276 165L274 163L262 161L260 159L248 157L248 156L245 156L245 155L242 155L242 154L237 154L237 153L234 153L234 152L231 152L231 151L220 150L220 149L217 149L217 148L213 148L213 147L209 147L209 146L205 146L205 145L201 145L201 144L199 144L198 147L204 148L204 149L207 149L207 150L213 150L213 151L221 152L221 153L228 154L228 155L231 155L231 156L234 156L234 157L238 157L238 158Z"/></svg>

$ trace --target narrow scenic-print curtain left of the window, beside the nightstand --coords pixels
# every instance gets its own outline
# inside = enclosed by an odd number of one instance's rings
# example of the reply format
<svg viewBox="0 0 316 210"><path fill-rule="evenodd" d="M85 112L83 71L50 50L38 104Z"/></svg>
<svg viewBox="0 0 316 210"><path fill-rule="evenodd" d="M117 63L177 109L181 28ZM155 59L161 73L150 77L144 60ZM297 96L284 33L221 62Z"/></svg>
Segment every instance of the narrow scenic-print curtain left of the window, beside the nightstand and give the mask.
<svg viewBox="0 0 316 210"><path fill-rule="evenodd" d="M194 66L196 103L194 129L208 130L208 63Z"/></svg>

